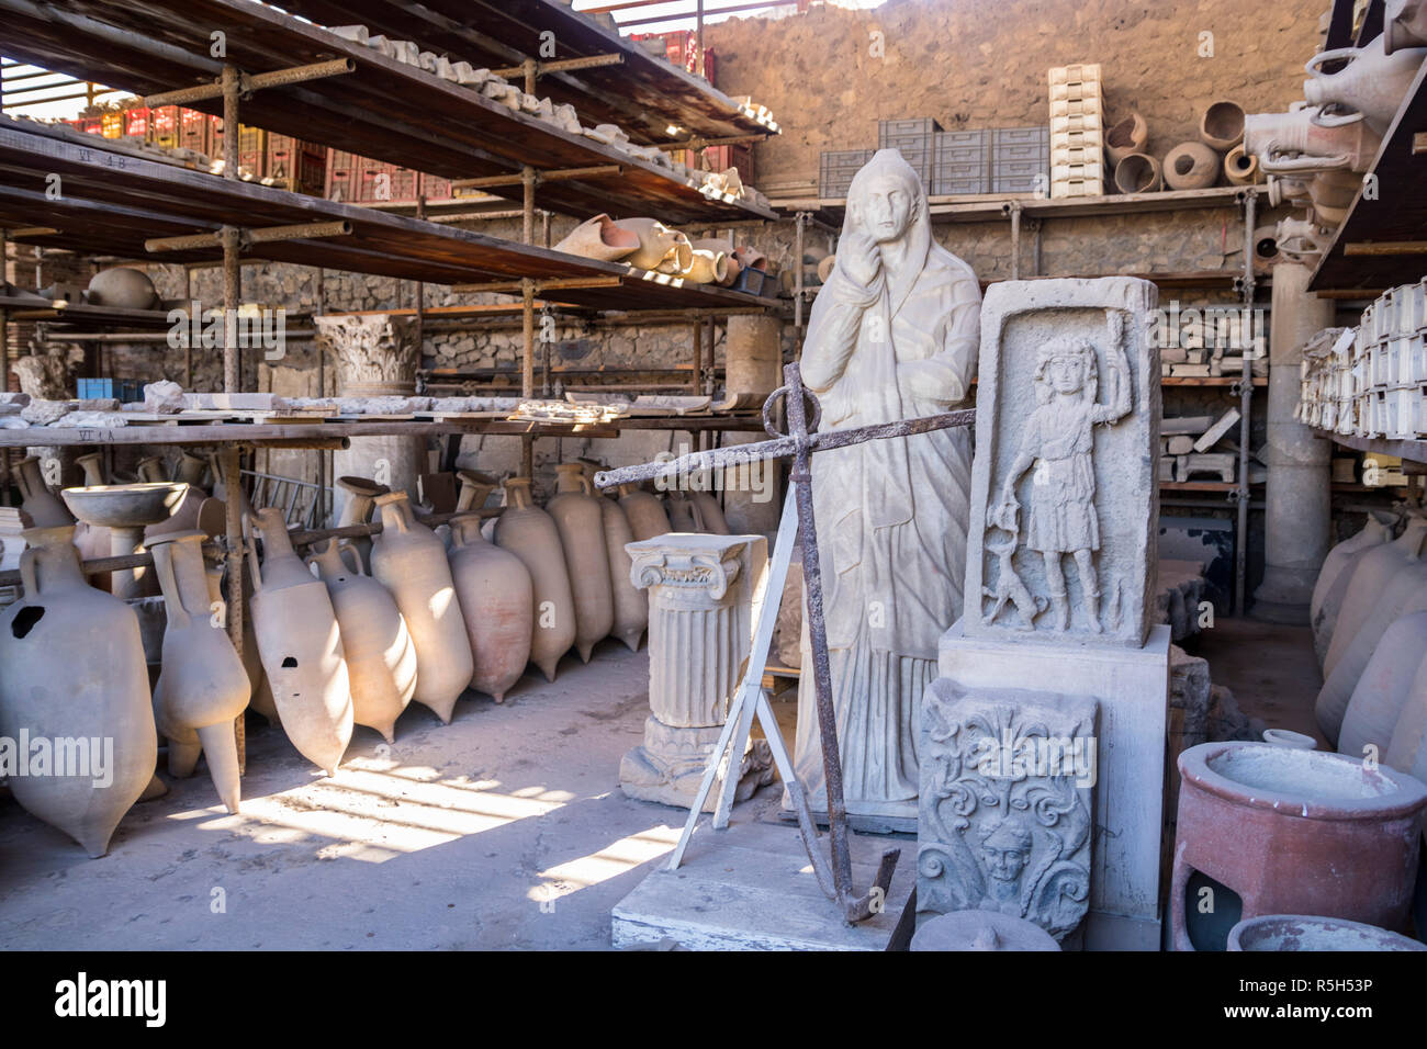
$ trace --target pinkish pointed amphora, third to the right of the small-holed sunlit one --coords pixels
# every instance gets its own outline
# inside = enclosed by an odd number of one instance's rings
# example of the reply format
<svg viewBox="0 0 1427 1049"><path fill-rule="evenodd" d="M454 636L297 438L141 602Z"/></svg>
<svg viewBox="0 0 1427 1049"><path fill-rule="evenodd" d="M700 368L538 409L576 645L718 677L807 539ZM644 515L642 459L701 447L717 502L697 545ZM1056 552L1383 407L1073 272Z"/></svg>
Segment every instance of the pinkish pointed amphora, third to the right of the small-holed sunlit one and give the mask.
<svg viewBox="0 0 1427 1049"><path fill-rule="evenodd" d="M475 661L471 688L501 704L531 659L535 585L525 562L485 539L479 514L451 518L451 578Z"/></svg>

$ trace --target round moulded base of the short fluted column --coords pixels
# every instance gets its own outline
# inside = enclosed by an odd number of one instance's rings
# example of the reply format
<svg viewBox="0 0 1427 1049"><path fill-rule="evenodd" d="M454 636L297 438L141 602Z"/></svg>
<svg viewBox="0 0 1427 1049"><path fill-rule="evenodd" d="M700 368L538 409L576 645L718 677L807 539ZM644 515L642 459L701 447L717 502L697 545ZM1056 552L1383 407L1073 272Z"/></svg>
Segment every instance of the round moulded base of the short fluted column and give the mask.
<svg viewBox="0 0 1427 1049"><path fill-rule="evenodd" d="M722 732L722 725L678 728L649 715L644 722L644 744L629 751L619 762L619 789L636 801L691 808L709 755ZM714 789L704 802L704 812L714 811L726 775L725 765L719 769ZM748 801L753 796L753 791L771 782L773 782L773 752L766 741L749 739L738 765L733 801Z"/></svg>

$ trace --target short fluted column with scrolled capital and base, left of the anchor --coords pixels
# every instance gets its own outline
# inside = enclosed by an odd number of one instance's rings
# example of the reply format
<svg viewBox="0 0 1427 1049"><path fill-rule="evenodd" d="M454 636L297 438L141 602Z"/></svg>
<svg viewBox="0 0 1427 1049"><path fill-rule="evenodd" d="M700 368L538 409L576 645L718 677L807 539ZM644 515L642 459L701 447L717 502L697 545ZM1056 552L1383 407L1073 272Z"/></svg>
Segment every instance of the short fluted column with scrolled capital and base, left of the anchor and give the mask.
<svg viewBox="0 0 1427 1049"><path fill-rule="evenodd" d="M629 578L649 589L649 718L619 762L631 798L689 808L752 647L753 587L768 559L761 535L669 534L631 542ZM735 799L772 782L772 754L749 741ZM705 802L712 811L719 781Z"/></svg>

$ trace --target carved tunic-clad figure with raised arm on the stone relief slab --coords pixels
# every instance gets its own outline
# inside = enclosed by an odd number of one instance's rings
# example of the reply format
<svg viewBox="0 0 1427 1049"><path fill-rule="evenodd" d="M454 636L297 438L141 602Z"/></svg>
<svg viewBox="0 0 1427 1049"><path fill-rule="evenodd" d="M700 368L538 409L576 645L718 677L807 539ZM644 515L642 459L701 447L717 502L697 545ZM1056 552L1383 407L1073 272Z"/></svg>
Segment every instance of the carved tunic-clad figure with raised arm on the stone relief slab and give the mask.
<svg viewBox="0 0 1427 1049"><path fill-rule="evenodd" d="M1066 554L1075 559L1080 577L1090 631L1102 631L1100 585L1095 569L1095 554L1100 549L1100 520L1095 510L1095 425L1119 422L1133 407L1123 315L1112 313L1109 328L1107 404L1097 400L1099 367L1090 340L1060 337L1040 345L1035 373L1037 407L1026 420L1020 450L1002 484L1000 501L987 511L989 524L1019 538L1016 485L1035 467L1025 547L1045 561L1056 631L1070 625L1062 569ZM1005 578L1005 559L1002 574Z"/></svg>

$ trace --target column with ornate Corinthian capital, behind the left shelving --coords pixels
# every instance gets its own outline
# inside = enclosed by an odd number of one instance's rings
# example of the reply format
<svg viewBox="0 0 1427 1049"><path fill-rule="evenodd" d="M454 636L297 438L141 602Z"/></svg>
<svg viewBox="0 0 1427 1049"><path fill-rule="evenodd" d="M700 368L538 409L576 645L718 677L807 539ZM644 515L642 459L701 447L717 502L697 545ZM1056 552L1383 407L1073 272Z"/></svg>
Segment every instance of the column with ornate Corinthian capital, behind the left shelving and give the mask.
<svg viewBox="0 0 1427 1049"><path fill-rule="evenodd" d="M335 314L314 317L317 341L337 358L338 397L411 397L417 390L421 347L414 317ZM354 437L332 452L334 477L362 477L404 491L417 501L417 478L425 472L425 441L420 437ZM380 464L385 461L387 468ZM382 477L377 477L377 474ZM340 521L350 492L332 488L332 520Z"/></svg>

